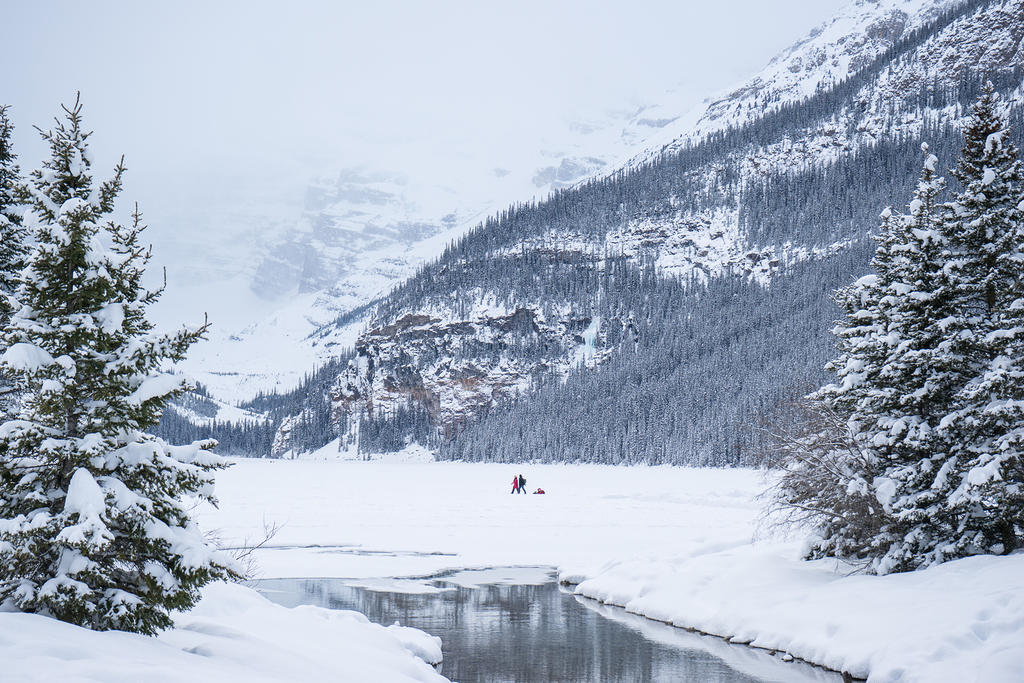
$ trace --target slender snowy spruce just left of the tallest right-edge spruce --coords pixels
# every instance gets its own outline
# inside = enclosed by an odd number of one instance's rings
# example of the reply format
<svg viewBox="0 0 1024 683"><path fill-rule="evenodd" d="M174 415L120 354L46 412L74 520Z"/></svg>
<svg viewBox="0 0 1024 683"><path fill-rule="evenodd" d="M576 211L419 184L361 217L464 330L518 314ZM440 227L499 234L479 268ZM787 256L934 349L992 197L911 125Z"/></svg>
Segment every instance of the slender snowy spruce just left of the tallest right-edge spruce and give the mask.
<svg viewBox="0 0 1024 683"><path fill-rule="evenodd" d="M945 185L936 175L938 159L927 145L925 153L886 298L890 351L880 376L888 403L867 414L876 428L867 435L877 459L870 488L882 511L865 555L880 573L941 561L935 547L949 536L948 520L937 510L941 497L931 484L951 447L936 427L959 384L949 372L944 328L938 324L948 318L953 303L939 205Z"/></svg>

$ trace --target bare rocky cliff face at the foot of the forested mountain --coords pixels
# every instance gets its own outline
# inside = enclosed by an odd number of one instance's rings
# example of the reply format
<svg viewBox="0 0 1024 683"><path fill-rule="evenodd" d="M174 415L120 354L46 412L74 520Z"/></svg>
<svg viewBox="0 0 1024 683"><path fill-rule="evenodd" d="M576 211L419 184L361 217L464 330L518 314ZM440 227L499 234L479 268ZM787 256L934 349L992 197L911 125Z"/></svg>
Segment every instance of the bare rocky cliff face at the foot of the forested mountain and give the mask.
<svg viewBox="0 0 1024 683"><path fill-rule="evenodd" d="M387 418L415 403L450 436L542 376L597 361L591 317L546 319L539 308L490 309L457 321L407 313L365 333L357 358L332 391L336 417Z"/></svg>

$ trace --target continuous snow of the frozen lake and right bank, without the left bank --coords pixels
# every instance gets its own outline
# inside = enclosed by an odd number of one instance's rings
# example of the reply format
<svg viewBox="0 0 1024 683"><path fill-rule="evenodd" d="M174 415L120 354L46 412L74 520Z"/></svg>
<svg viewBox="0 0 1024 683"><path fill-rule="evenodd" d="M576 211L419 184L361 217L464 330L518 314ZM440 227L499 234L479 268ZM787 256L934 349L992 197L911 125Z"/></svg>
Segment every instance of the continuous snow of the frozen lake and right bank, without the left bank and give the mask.
<svg viewBox="0 0 1024 683"><path fill-rule="evenodd" d="M544 496L511 496L518 472ZM263 577L558 566L577 592L871 681L1019 681L1024 554L849 574L768 538L750 470L239 461L202 521L258 541ZM413 587L413 588L409 588Z"/></svg>

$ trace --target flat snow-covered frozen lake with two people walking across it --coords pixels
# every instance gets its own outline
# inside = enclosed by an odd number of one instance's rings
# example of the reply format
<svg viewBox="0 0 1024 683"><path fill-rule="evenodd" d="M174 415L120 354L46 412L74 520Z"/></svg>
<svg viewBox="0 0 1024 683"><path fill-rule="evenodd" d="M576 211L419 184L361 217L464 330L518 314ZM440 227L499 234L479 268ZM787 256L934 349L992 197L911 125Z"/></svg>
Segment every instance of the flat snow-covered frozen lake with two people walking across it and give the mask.
<svg viewBox="0 0 1024 683"><path fill-rule="evenodd" d="M201 521L258 541L263 578L424 577L457 568L599 566L640 553L750 544L749 470L236 460ZM546 495L510 495L512 476ZM380 551L386 551L383 554Z"/></svg>

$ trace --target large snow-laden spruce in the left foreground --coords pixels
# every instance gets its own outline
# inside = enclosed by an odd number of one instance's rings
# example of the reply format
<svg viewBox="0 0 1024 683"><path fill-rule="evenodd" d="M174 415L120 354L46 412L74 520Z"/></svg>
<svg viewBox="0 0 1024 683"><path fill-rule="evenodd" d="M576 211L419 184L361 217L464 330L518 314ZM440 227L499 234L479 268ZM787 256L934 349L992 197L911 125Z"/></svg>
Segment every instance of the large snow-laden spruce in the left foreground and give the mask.
<svg viewBox="0 0 1024 683"><path fill-rule="evenodd" d="M168 364L206 326L152 331L139 214L109 218L124 166L94 184L77 98L65 115L41 131L50 159L24 187L37 244L3 336L0 367L24 398L0 426L0 603L156 634L203 585L236 577L182 500L214 501L220 459L145 433L184 388Z"/></svg>

